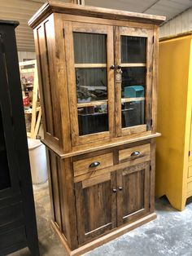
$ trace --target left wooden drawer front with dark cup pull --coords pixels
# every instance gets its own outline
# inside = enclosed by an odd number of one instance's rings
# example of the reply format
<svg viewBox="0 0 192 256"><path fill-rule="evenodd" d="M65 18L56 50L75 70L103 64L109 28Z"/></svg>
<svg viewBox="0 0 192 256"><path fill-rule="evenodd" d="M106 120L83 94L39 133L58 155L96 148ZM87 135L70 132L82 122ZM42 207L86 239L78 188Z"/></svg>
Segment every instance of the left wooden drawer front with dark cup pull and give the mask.
<svg viewBox="0 0 192 256"><path fill-rule="evenodd" d="M89 157L73 162L74 176L86 174L88 172L101 170L103 168L113 166L113 153Z"/></svg>

